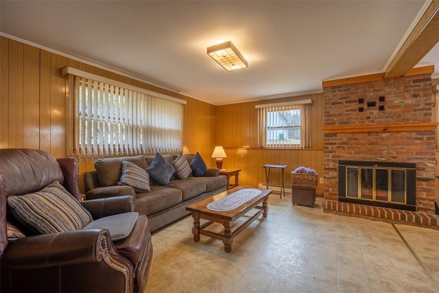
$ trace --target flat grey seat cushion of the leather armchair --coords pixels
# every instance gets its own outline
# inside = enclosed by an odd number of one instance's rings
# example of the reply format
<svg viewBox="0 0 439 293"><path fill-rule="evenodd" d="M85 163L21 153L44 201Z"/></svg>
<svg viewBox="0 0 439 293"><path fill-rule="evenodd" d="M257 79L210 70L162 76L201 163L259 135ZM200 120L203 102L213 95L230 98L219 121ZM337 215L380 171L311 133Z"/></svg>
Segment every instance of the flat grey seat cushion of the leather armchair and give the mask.
<svg viewBox="0 0 439 293"><path fill-rule="evenodd" d="M130 235L132 227L136 224L139 213L117 213L115 215L108 215L107 217L99 218L89 222L82 228L85 229L107 229L110 231L110 237L113 241L123 239Z"/></svg>

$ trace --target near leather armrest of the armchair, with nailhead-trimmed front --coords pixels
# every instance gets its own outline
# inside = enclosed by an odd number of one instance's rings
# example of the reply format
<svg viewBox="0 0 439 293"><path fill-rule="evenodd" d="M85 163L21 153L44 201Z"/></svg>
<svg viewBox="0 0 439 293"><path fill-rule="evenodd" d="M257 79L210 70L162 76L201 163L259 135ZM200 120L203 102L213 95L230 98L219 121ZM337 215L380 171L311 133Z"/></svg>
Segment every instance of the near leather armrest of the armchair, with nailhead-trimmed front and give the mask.
<svg viewBox="0 0 439 293"><path fill-rule="evenodd" d="M108 230L91 229L36 235L12 242L1 259L2 268L33 269L98 263L110 258L130 267L120 257Z"/></svg>

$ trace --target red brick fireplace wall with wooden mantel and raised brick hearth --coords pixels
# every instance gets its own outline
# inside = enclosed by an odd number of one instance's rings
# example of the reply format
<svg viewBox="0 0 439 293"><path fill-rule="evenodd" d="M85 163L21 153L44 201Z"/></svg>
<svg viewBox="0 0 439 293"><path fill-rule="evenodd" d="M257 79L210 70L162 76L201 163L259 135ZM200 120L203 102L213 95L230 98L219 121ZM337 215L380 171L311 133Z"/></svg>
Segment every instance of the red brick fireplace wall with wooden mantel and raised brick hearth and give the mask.
<svg viewBox="0 0 439 293"><path fill-rule="evenodd" d="M324 200L330 213L439 228L431 73L324 82ZM416 166L412 211L340 200L339 162Z"/></svg>

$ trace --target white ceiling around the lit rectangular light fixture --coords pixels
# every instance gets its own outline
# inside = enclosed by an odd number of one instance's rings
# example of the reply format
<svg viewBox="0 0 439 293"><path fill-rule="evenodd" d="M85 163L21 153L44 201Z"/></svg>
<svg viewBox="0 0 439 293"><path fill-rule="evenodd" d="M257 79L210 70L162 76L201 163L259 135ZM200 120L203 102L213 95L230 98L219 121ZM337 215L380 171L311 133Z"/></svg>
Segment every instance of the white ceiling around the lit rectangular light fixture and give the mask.
<svg viewBox="0 0 439 293"><path fill-rule="evenodd" d="M0 1L3 36L215 105L383 72L428 1ZM206 47L231 40L248 68ZM436 64L439 45L420 64Z"/></svg>

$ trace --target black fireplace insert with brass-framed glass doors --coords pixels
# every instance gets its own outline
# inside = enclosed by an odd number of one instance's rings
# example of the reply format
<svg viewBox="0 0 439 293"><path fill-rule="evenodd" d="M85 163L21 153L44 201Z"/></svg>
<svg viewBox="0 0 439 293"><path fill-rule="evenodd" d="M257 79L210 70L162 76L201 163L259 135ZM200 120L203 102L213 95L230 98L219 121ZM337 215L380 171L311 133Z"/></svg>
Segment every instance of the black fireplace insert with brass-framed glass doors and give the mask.
<svg viewBox="0 0 439 293"><path fill-rule="evenodd" d="M416 163L339 161L338 200L416 211Z"/></svg>

